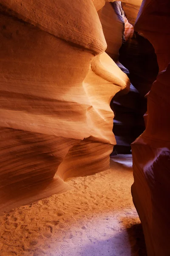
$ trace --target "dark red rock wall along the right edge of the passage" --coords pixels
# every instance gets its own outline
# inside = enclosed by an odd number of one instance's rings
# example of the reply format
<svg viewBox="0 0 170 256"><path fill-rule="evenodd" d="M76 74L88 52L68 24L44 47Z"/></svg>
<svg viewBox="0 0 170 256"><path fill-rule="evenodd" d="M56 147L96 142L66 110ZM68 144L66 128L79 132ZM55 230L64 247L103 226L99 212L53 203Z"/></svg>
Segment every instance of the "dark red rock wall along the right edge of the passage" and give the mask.
<svg viewBox="0 0 170 256"><path fill-rule="evenodd" d="M132 144L133 202L148 256L170 255L170 2L144 0L135 30L153 44L159 75L147 96L144 133Z"/></svg>

